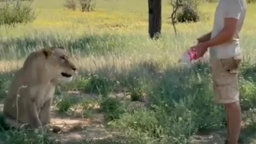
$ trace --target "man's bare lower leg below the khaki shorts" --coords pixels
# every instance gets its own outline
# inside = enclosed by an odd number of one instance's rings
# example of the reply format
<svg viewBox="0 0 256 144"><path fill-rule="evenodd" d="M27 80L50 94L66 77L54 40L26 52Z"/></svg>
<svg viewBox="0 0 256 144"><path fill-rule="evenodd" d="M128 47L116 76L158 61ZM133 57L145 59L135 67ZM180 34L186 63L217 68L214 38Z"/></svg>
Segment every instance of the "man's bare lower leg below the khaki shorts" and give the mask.
<svg viewBox="0 0 256 144"><path fill-rule="evenodd" d="M228 144L237 144L241 123L242 112L239 102L226 103L225 108L227 111L227 131L228 131Z"/></svg>

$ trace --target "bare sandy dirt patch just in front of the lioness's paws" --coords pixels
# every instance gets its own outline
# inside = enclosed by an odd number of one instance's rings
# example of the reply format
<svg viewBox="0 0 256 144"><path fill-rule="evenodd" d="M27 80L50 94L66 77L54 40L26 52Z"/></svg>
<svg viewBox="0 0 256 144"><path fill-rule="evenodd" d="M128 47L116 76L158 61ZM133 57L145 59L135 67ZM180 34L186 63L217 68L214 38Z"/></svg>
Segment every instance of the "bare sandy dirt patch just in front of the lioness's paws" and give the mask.
<svg viewBox="0 0 256 144"><path fill-rule="evenodd" d="M53 117L52 124L61 127L54 134L61 143L78 142L84 139L106 139L112 135L104 126L102 114L94 114L93 118Z"/></svg>

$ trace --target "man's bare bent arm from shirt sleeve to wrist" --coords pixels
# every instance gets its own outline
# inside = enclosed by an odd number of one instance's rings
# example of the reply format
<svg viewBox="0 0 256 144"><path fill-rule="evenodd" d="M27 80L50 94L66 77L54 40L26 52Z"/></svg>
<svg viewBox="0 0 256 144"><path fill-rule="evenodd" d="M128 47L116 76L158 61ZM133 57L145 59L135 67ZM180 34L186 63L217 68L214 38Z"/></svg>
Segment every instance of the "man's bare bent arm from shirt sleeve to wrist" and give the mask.
<svg viewBox="0 0 256 144"><path fill-rule="evenodd" d="M233 38L234 34L236 33L236 26L238 20L236 18L225 18L224 21L224 27L220 31L220 33L209 41L203 43L205 47L224 44L226 42L229 42Z"/></svg>

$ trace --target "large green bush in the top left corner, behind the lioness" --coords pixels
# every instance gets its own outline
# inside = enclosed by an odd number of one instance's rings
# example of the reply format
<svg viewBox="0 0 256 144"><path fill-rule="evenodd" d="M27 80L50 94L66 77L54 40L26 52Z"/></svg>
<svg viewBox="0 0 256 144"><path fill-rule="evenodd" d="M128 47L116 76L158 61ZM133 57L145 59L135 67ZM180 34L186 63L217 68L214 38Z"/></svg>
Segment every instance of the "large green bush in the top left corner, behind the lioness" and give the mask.
<svg viewBox="0 0 256 144"><path fill-rule="evenodd" d="M36 14L30 4L19 1L5 1L0 5L0 25L15 25L28 23L36 19Z"/></svg>

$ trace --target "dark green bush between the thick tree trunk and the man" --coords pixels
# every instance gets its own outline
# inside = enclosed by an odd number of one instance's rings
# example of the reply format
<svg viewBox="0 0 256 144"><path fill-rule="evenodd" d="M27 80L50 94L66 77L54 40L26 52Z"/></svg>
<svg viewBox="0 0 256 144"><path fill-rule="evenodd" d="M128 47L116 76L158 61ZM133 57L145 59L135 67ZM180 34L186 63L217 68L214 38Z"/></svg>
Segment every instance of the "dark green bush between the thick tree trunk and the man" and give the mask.
<svg viewBox="0 0 256 144"><path fill-rule="evenodd" d="M177 13L178 22L197 22L200 19L198 11L199 1L182 1L180 9Z"/></svg>

